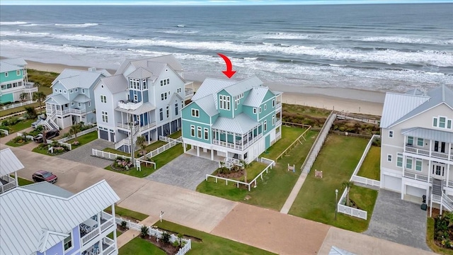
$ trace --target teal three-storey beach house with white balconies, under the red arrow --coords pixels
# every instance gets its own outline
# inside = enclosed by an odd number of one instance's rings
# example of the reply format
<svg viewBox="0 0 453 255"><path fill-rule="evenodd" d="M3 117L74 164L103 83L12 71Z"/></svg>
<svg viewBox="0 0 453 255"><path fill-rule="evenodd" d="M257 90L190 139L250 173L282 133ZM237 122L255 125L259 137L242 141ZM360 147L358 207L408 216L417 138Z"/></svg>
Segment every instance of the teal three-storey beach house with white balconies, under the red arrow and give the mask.
<svg viewBox="0 0 453 255"><path fill-rule="evenodd" d="M182 110L184 151L191 145L197 157L251 162L282 135L281 96L257 77L205 79Z"/></svg>

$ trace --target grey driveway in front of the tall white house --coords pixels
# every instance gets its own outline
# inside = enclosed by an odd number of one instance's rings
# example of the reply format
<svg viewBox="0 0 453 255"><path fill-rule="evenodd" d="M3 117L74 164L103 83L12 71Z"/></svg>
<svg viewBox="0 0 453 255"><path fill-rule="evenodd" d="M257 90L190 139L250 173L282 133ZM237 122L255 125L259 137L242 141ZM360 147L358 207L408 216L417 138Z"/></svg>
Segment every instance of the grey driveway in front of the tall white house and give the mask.
<svg viewBox="0 0 453 255"><path fill-rule="evenodd" d="M106 147L113 147L113 142L108 142L103 139L96 139L92 142L88 142L86 145L82 145L81 147L78 147L56 157L104 168L105 166L110 166L110 164L112 164L112 161L108 159L92 157L91 149L105 149Z"/></svg>

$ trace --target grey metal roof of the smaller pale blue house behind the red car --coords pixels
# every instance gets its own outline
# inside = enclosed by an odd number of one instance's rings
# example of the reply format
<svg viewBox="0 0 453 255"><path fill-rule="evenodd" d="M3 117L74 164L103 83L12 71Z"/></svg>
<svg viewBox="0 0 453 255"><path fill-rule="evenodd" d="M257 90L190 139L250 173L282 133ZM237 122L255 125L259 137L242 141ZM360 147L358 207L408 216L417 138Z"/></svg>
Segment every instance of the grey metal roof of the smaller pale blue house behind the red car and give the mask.
<svg viewBox="0 0 453 255"><path fill-rule="evenodd" d="M52 81L52 86L59 82L66 89L89 89L95 84L99 77L105 77L105 73L101 71L91 72L76 69L64 69L63 72L59 74L54 81Z"/></svg>

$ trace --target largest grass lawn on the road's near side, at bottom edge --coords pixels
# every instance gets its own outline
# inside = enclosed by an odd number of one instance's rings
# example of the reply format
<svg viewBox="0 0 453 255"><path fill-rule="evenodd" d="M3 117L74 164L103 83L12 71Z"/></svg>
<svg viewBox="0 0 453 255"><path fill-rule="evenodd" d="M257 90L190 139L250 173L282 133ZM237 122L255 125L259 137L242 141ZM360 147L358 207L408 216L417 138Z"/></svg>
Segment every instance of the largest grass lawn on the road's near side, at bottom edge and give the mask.
<svg viewBox="0 0 453 255"><path fill-rule="evenodd" d="M234 242L229 239L217 237L189 227L167 222L166 220L162 220L162 222L158 221L155 225L161 229L166 229L171 232L202 239L202 242L192 242L192 249L188 254L273 254L269 251L258 249L247 244L241 244L240 242Z"/></svg>

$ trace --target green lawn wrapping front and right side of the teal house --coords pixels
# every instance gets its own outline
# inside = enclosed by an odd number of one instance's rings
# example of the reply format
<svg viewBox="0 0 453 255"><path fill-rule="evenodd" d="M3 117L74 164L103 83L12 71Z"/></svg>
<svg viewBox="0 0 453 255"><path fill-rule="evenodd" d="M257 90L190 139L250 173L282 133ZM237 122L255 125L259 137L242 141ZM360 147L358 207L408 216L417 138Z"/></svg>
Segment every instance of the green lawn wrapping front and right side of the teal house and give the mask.
<svg viewBox="0 0 453 255"><path fill-rule="evenodd" d="M284 149L286 149L294 140L304 132L301 128L282 127L282 138L268 149L268 153L263 153L261 156L275 159ZM296 145L287 157L283 157L277 161L277 165L269 171L268 174L263 174L263 181L258 179L257 187L252 188L249 192L246 188L236 188L234 183L225 185L224 181L215 183L213 178L208 181L203 181L197 186L197 191L207 193L213 196L219 196L234 201L241 201L251 205L258 205L263 208L280 210L285 203L292 187L299 178L300 167L308 154L311 145L313 145L318 132L309 131L306 133L306 140L302 145ZM293 140L289 139L292 137ZM288 171L287 164L296 165L296 173ZM272 198L272 199L270 199Z"/></svg>

